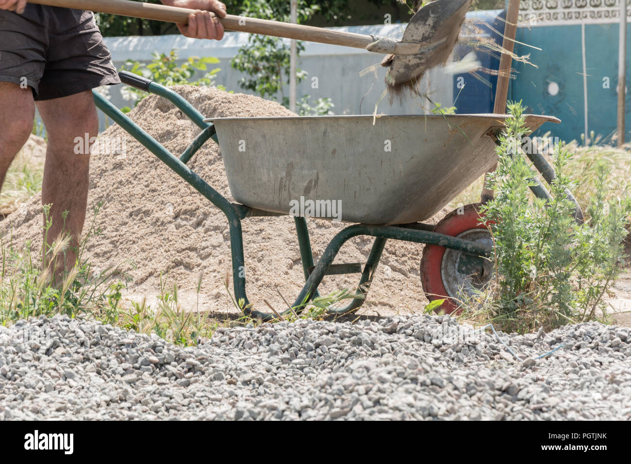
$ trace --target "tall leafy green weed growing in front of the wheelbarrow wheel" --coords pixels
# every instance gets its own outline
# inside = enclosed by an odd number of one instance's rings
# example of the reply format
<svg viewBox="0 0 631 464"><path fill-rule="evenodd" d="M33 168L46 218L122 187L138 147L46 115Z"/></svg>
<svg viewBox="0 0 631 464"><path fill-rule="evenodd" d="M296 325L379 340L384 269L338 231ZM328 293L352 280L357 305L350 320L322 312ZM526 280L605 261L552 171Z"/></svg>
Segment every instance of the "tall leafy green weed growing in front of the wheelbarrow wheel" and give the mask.
<svg viewBox="0 0 631 464"><path fill-rule="evenodd" d="M492 222L495 241L492 318L507 330L603 318L603 297L624 258L631 200L609 193L610 168L599 163L586 205L589 220L575 222L574 203L565 194L575 187L567 175L571 154L563 146L553 155L557 179L550 200L533 198L529 186L537 174L519 153L529 132L524 107L509 103L509 111L512 117L497 148L498 169L490 179L496 196L481 208Z"/></svg>

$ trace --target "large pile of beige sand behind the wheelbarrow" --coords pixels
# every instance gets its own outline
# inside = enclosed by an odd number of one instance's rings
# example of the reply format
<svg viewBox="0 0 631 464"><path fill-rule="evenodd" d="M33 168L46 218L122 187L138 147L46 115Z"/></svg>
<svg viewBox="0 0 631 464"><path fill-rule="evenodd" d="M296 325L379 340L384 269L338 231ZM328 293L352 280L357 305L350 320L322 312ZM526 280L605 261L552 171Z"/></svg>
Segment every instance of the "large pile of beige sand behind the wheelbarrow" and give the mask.
<svg viewBox="0 0 631 464"><path fill-rule="evenodd" d="M250 95L193 86L173 89L207 117L292 115L276 102ZM177 156L199 133L174 105L155 96L145 98L130 116ZM149 302L155 301L160 273L168 275L170 285L177 282L184 307L193 309L199 274L203 272L199 309L231 310L222 283L223 274L230 270L228 226L223 213L119 126L107 129L102 134L106 137L124 140L127 154L116 157L99 153L97 148L92 155L88 205L103 203L96 218L103 235L91 240L85 257L100 269L120 264L132 278L128 289L134 299L146 296ZM189 166L232 201L215 143L206 143ZM34 246L40 246L40 211L37 195L0 223L0 234L6 237L11 232L18 244L32 240ZM86 228L92 220L88 211ZM309 226L315 259L333 235L345 227L313 219ZM304 284L293 219L248 218L243 230L249 299L258 308L264 308L262 300L266 299L280 309L278 287L293 302ZM343 247L336 262L363 263L371 245L370 237L357 237ZM422 245L389 242L364 307L380 314L421 311L427 302L419 278L421 253ZM326 278L321 292L354 288L358 280L359 275Z"/></svg>

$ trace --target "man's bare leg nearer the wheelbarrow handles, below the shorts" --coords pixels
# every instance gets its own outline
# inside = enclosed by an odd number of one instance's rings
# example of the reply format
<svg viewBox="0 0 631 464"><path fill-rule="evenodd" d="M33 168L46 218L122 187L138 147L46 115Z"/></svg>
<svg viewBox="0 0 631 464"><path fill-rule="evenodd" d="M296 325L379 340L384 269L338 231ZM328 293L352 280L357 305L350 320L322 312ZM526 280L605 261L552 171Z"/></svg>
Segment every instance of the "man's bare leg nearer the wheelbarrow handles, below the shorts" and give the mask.
<svg viewBox="0 0 631 464"><path fill-rule="evenodd" d="M85 141L96 137L98 116L91 91L41 100L37 102L37 109L48 134L42 184L42 205L52 204L52 227L48 230L47 243L52 244L66 232L71 237L65 257L56 257L54 275L58 276L60 271L74 266L88 203L90 152L81 143L81 153L75 153L75 138ZM64 211L68 211L65 219Z"/></svg>

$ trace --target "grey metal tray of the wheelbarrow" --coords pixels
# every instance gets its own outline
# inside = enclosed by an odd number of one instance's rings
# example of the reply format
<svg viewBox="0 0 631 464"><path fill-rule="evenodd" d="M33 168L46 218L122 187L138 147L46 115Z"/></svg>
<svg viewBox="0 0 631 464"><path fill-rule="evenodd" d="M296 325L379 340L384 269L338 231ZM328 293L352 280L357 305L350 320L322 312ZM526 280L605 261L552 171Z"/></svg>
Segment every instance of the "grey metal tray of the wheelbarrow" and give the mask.
<svg viewBox="0 0 631 464"><path fill-rule="evenodd" d="M289 214L297 203L335 201L341 211L336 219L401 224L432 217L495 165L495 143L488 133L504 128L505 117L227 117L206 121L215 124L230 192L239 203ZM527 124L534 131L554 120L528 116Z"/></svg>

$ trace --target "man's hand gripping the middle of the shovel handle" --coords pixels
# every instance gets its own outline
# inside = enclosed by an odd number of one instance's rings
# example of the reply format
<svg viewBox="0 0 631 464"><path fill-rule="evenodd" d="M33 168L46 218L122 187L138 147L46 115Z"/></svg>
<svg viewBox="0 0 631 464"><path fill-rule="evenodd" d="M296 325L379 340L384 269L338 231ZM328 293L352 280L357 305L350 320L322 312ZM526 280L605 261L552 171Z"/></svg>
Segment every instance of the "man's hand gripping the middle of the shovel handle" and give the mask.
<svg viewBox="0 0 631 464"><path fill-rule="evenodd" d="M162 3L196 10L189 15L188 25L177 25L182 35L193 39L221 40L223 38L223 26L216 16L223 18L226 15L226 6L219 0L162 0ZM211 15L210 11L215 15Z"/></svg>

